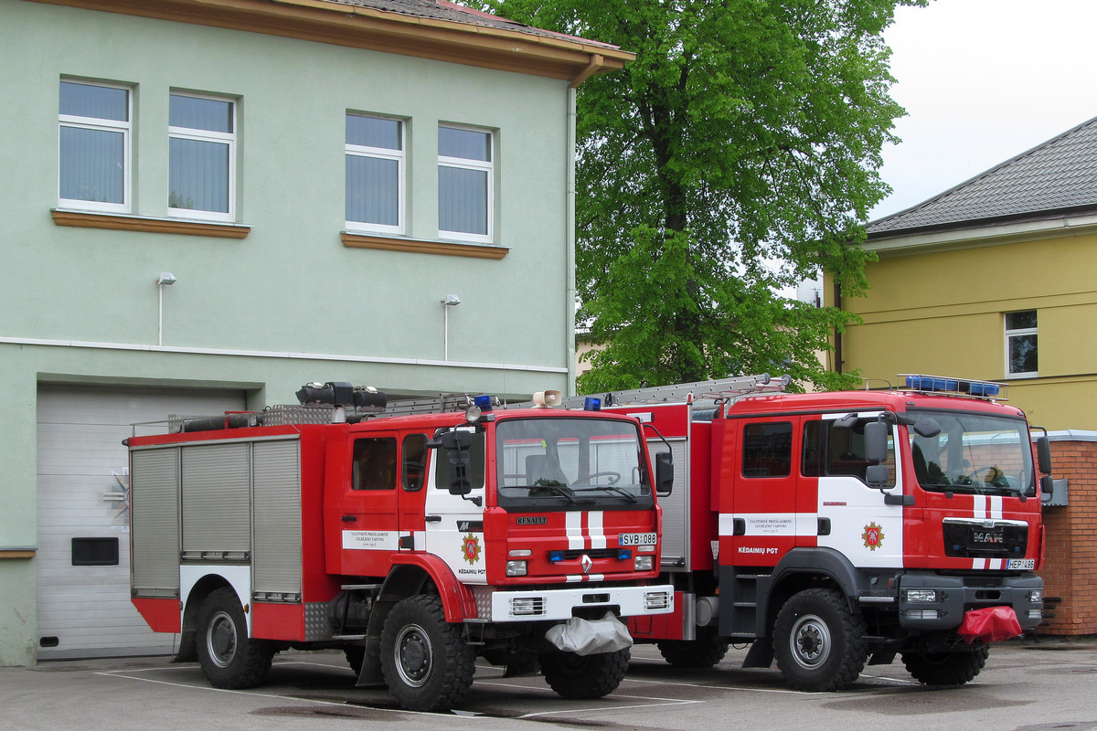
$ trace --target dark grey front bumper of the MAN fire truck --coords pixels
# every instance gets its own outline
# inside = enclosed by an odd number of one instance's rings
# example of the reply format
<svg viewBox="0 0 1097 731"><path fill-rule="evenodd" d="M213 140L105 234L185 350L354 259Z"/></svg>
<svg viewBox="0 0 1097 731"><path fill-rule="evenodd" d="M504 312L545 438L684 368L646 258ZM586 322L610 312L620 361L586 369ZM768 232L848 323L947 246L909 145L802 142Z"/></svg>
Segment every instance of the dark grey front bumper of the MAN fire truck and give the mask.
<svg viewBox="0 0 1097 731"><path fill-rule="evenodd" d="M1043 620L1043 580L1020 576L941 576L909 572L898 581L898 620L906 629L954 629L971 609L1008 606L1022 629Z"/></svg>

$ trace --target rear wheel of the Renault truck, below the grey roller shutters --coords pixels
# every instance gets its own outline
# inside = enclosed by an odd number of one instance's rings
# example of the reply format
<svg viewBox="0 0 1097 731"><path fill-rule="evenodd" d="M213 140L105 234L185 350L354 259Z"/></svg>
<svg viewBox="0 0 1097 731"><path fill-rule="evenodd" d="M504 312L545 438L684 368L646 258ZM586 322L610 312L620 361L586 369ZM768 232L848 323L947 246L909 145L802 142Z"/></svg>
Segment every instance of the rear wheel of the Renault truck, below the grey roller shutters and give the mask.
<svg viewBox="0 0 1097 731"><path fill-rule="evenodd" d="M211 685L238 690L267 682L274 648L248 637L248 623L235 591L226 586L210 594L197 620L194 649Z"/></svg>

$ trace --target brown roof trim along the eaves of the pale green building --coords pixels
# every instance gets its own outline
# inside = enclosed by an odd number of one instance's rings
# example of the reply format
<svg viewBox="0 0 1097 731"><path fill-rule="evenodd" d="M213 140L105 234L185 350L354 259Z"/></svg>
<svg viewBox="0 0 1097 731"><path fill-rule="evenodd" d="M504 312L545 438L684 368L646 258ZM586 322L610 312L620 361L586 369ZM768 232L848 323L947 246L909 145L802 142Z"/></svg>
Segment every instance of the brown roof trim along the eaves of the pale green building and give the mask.
<svg viewBox="0 0 1097 731"><path fill-rule="evenodd" d="M263 33L563 79L578 85L635 58L615 46L386 12L331 0L29 0Z"/></svg>

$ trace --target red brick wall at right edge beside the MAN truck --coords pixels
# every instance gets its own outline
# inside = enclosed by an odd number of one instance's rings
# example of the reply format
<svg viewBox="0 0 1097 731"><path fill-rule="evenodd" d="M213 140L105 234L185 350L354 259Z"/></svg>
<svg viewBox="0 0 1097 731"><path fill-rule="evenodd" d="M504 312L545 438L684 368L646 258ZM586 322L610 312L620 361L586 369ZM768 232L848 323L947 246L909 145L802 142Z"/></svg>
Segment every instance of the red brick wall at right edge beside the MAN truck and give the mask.
<svg viewBox="0 0 1097 731"><path fill-rule="evenodd" d="M1062 603L1045 635L1097 633L1097 442L1052 436L1052 475L1070 481L1070 505L1043 507L1045 596Z"/></svg>

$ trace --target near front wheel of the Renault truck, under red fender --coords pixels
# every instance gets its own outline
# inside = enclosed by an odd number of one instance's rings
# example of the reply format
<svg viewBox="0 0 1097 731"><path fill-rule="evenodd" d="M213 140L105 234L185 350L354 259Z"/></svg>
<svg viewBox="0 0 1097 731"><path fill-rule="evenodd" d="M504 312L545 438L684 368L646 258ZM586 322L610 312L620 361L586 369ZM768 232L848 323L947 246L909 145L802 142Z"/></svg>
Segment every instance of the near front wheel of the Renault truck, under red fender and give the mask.
<svg viewBox="0 0 1097 731"><path fill-rule="evenodd" d="M473 684L474 660L461 628L445 621L437 596L409 596L385 618L381 672L402 708L450 710Z"/></svg>

